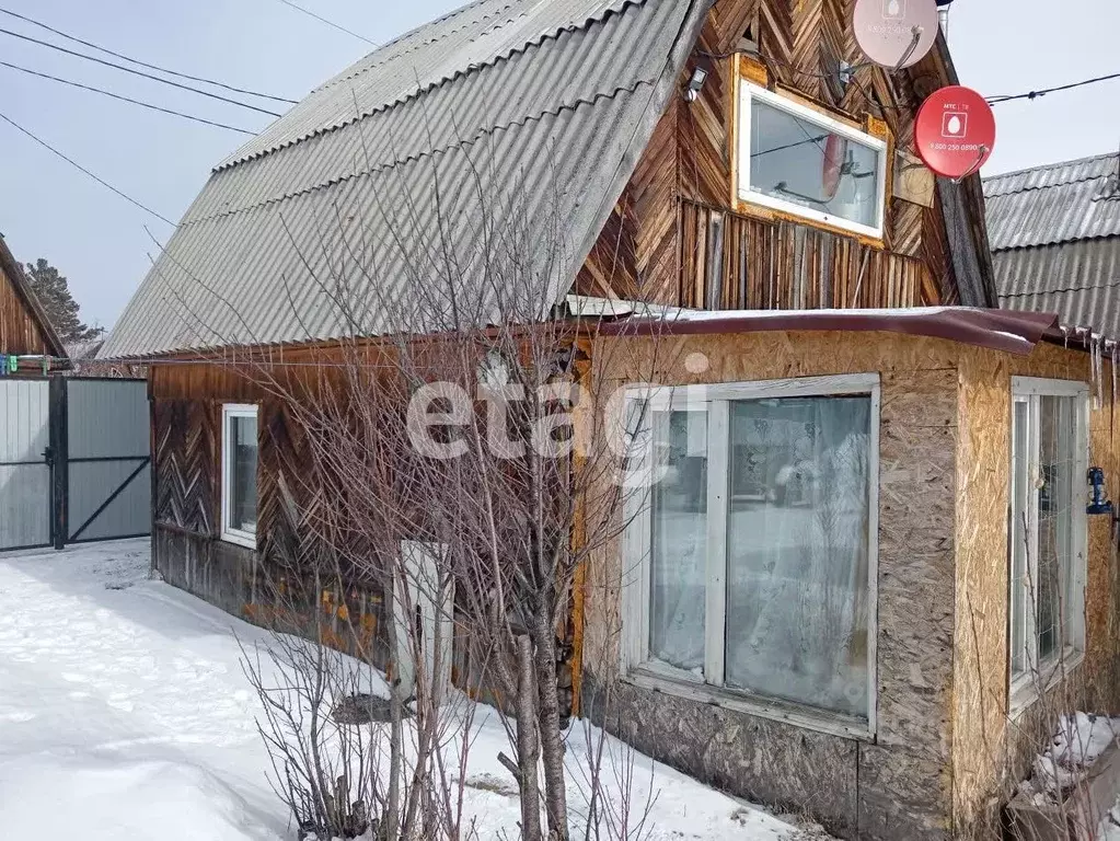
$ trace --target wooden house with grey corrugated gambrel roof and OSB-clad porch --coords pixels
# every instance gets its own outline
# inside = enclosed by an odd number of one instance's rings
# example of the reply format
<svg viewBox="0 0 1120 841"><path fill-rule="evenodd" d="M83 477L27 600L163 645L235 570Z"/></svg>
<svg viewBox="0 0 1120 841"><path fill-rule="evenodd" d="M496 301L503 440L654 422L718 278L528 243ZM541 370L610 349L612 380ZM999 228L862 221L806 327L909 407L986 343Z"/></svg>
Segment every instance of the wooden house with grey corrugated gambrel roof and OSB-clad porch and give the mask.
<svg viewBox="0 0 1120 841"><path fill-rule="evenodd" d="M1111 373L995 309L979 178L909 155L956 82L944 40L849 73L847 10L483 0L222 161L100 355L150 365L164 577L258 617L329 504L291 498L305 442L239 361L329 381L440 307L484 329L486 249L529 243L551 316L609 316L590 387L652 382L634 431L673 454L584 570L575 704L846 838L990 826L1051 678L1116 705L1110 523L1083 504L1090 465L1120 482ZM603 362L620 346L633 367Z"/></svg>

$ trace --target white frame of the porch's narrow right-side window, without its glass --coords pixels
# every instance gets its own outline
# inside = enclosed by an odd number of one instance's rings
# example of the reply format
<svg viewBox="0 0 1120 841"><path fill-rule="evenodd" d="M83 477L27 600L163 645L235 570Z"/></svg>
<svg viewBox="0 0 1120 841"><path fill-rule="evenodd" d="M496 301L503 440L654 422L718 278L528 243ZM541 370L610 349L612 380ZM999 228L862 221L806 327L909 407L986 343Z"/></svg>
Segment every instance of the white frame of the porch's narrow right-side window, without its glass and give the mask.
<svg viewBox="0 0 1120 841"><path fill-rule="evenodd" d="M1085 656L1085 580L1088 574L1089 557L1089 515L1085 512L1085 479L1089 471L1089 385L1076 380L1046 380L1029 376L1011 377L1011 470L1008 477L1008 495L1011 504L1008 506L1010 516L1015 516L1015 505L1017 502L1014 493L1014 458L1016 452L1016 426L1015 405L1025 403L1027 410L1027 454L1028 462L1027 476L1037 476L1039 471L1038 447L1039 447L1039 405L1043 396L1052 398L1074 398L1076 400L1076 417L1074 420L1075 436L1073 465L1073 482L1071 487L1070 511L1071 517L1071 543L1073 569L1062 570L1063 578L1068 581L1070 592L1063 599L1064 609L1068 617L1068 623L1060 623L1062 628L1062 648L1056 654L1051 655L1046 661L1038 662L1038 634L1035 627L1037 607L1032 605L1032 609L1026 611L1027 627L1024 630L1024 638L1029 641L1027 646L1027 669L1021 674L1016 674L1012 669L1014 652L1011 646L1015 639L1014 609L1011 599L1015 596L1011 587L1011 573L1014 572L1014 559L1011 552L1008 553L1008 625L1007 625L1007 675L1008 675L1008 711L1016 716L1029 707L1038 697L1039 686L1048 690L1060 682L1063 676L1076 667ZM1038 591L1038 494L1027 495L1027 562L1028 574L1030 576L1033 592ZM1012 523L1008 523L1008 540L1012 540ZM1070 604L1072 601L1072 604Z"/></svg>

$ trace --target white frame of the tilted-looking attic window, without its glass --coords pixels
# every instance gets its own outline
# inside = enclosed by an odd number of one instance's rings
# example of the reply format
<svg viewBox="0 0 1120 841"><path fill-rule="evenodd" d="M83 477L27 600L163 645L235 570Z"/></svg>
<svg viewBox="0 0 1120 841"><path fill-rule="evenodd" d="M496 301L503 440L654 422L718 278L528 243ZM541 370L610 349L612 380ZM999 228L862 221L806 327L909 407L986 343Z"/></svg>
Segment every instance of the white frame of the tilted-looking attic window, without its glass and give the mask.
<svg viewBox="0 0 1120 841"><path fill-rule="evenodd" d="M846 219L842 216L833 216L827 214L822 211L814 211L811 207L803 207L795 202L788 202L775 196L766 195L765 193L758 193L757 190L750 189L750 121L752 121L752 104L754 101L764 102L771 108L776 108L780 111L785 111L787 114L806 120L809 122L820 125L822 129L827 129L833 134L839 134L853 142L860 143L862 146L869 147L878 152L878 166L876 168L876 219L877 224L874 226L862 225L858 222L852 222L851 219ZM780 96L776 93L767 91L765 87L759 87L745 80L739 81L739 111L738 111L738 127L736 129L739 134L738 143L738 161L736 166L736 185L735 195L740 202L746 202L748 204L762 205L774 211L781 211L783 213L788 213L793 216L801 216L803 218L810 219L812 222L819 222L821 224L828 225L830 227L840 228L843 231L850 231L855 234L861 234L864 236L871 237L874 240L883 239L883 227L884 221L886 218L886 200L887 200L887 142L883 138L869 134L866 131L860 131L851 125L840 122L839 120L822 114L819 111L814 111L805 105L797 102Z"/></svg>

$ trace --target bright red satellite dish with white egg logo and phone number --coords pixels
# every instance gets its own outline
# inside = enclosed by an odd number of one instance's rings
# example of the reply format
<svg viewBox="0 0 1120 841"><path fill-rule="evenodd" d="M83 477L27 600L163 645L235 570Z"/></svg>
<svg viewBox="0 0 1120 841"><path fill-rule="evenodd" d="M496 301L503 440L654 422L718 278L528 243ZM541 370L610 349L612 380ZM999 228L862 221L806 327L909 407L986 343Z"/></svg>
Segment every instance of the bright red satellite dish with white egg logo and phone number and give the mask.
<svg viewBox="0 0 1120 841"><path fill-rule="evenodd" d="M917 153L937 175L963 178L996 148L996 115L971 87L942 87L922 103L914 125Z"/></svg>

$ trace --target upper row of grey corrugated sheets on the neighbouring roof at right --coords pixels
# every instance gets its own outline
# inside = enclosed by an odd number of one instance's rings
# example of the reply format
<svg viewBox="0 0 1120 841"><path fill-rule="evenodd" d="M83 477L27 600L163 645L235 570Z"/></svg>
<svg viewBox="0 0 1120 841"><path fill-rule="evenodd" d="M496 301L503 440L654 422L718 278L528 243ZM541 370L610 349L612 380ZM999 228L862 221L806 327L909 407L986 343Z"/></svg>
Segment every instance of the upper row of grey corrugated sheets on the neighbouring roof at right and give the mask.
<svg viewBox="0 0 1120 841"><path fill-rule="evenodd" d="M1120 236L1116 155L984 179L993 251Z"/></svg>

